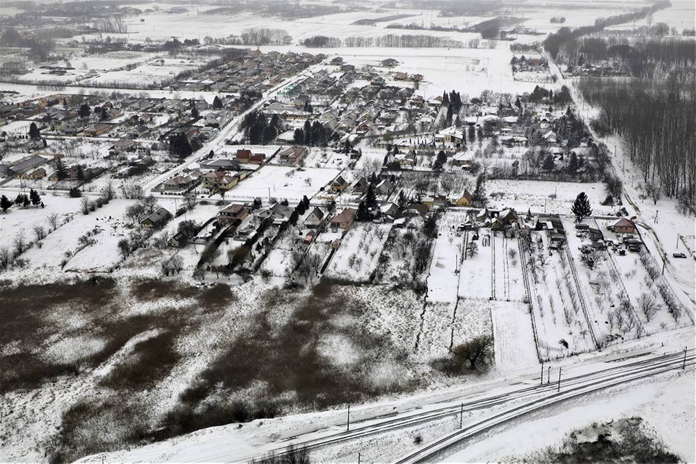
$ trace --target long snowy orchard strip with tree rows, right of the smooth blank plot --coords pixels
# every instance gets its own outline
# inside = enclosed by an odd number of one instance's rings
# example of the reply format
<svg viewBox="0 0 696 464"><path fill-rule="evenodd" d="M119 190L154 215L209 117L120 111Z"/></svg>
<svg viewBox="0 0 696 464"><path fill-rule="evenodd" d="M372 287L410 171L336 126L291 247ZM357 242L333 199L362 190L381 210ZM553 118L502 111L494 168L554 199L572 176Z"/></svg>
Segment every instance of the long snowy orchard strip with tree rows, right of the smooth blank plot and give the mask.
<svg viewBox="0 0 696 464"><path fill-rule="evenodd" d="M546 232L532 232L524 262L532 294L539 355L562 358L596 349L565 253L548 253Z"/></svg>

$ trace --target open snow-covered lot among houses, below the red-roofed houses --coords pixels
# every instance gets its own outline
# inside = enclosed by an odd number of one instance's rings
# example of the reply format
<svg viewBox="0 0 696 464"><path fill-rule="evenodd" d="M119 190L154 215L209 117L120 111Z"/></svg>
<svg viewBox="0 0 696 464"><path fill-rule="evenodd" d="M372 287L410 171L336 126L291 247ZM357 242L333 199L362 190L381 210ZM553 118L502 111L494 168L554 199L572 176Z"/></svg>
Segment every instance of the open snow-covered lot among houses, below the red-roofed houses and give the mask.
<svg viewBox="0 0 696 464"><path fill-rule="evenodd" d="M299 201L312 197L340 173L338 169L263 166L226 193L227 198L287 198Z"/></svg>

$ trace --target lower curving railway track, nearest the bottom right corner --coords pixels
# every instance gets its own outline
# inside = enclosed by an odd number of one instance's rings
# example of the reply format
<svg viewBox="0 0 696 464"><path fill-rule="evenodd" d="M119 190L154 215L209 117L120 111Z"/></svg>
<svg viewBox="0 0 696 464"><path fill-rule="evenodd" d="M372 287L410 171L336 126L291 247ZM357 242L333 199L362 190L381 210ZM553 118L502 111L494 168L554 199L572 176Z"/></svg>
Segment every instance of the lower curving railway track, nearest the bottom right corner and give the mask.
<svg viewBox="0 0 696 464"><path fill-rule="evenodd" d="M598 381L592 381L590 383L584 383L570 388L564 388L562 392L555 392L553 394L548 395L547 397L539 399L538 401L532 401L531 403L524 404L521 406L507 408L501 413L497 413L495 415L492 415L491 417L487 417L486 419L475 422L474 424L469 424L463 427L462 429L459 429L458 431L454 431L452 433L449 433L448 435L445 435L442 438L439 438L438 440L435 440L434 442L430 442L427 445L420 447L416 451L413 451L407 454L406 456L400 458L399 460L395 461L395 463L410 464L420 463L427 460L430 461L432 460L432 458L434 458L434 456L441 454L443 451L452 447L453 445L456 445L461 440L476 435L477 433L487 431L495 426L504 424L505 422L509 422L513 419L522 417L523 415L526 415L528 413L532 413L535 410L552 406L556 403L567 401L575 397L580 397L583 394L590 394L592 392L603 390L609 387L615 387L623 383L637 381L642 378L647 378L649 376L654 376L657 374L663 374L667 371L671 371L675 368L681 367L682 362L683 360L681 359L672 359L663 362L658 362L652 365L648 365L647 367L642 367L641 369L635 369L635 371L631 371L625 374L617 374L615 376L610 376L608 378L604 378ZM686 365L688 365L689 367L696 365L695 356L693 354L686 358Z"/></svg>

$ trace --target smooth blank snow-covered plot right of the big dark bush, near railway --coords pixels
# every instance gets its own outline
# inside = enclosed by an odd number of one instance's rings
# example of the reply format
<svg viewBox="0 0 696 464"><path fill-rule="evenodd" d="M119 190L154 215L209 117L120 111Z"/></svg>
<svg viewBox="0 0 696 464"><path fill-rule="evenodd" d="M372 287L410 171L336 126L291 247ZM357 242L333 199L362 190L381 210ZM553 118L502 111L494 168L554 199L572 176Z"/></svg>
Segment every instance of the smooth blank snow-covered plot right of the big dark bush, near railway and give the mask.
<svg viewBox="0 0 696 464"><path fill-rule="evenodd" d="M496 301L491 319L496 369L507 371L539 362L529 305Z"/></svg>

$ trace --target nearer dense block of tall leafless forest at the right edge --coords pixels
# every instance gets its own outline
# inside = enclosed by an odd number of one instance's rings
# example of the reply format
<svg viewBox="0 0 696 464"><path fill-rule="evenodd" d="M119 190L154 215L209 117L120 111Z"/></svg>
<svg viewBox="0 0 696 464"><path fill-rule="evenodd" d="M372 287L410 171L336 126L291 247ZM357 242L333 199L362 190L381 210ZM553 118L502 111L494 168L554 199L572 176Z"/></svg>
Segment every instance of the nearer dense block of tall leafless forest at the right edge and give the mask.
<svg viewBox="0 0 696 464"><path fill-rule="evenodd" d="M649 189L694 211L696 183L696 81L582 79L578 88L601 109L599 125L617 131Z"/></svg>

